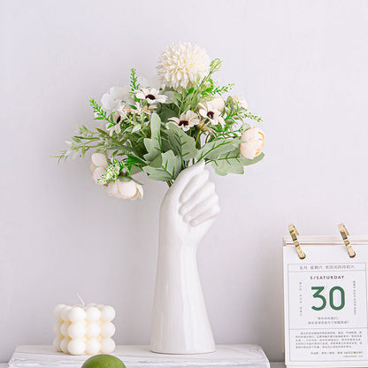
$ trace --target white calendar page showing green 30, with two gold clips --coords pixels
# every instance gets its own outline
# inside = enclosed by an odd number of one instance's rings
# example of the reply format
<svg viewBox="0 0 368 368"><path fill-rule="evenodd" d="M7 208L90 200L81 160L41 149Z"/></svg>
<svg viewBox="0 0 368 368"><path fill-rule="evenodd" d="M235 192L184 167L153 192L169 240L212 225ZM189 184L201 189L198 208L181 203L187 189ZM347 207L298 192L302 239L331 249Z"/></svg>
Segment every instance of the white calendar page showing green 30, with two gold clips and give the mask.
<svg viewBox="0 0 368 368"><path fill-rule="evenodd" d="M293 227L283 247L285 364L368 367L368 237Z"/></svg>

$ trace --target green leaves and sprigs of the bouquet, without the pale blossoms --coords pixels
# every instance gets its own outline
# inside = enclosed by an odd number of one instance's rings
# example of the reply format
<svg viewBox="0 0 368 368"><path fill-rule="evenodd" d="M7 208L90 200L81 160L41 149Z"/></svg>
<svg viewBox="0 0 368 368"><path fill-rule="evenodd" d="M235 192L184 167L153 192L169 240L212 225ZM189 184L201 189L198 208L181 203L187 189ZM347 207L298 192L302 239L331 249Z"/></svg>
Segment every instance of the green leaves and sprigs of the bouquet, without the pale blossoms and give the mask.
<svg viewBox="0 0 368 368"><path fill-rule="evenodd" d="M110 164L98 180L100 183L131 180L131 175L144 172L149 179L171 185L181 170L200 160L211 163L219 175L244 173L244 166L256 164L265 156L262 153L249 160L242 157L239 149L242 132L250 127L247 119L261 122L262 118L239 106L231 96L224 100L224 109L217 111L223 120L200 116L198 111L199 103L211 103L234 87L234 83L218 86L213 80L220 66L219 58L212 60L209 73L202 80L198 77L188 88L160 89L159 94L170 95L170 101L154 104L135 96L142 87L132 68L129 93L134 104L121 103L119 110L104 111L91 98L89 102L100 125L95 129L78 126L68 142L69 148L59 151L58 161L70 156L84 157L88 151L105 154L110 157ZM196 113L195 126L184 131L170 123L171 118L183 119L180 115L189 110ZM111 126L117 129L108 130Z"/></svg>

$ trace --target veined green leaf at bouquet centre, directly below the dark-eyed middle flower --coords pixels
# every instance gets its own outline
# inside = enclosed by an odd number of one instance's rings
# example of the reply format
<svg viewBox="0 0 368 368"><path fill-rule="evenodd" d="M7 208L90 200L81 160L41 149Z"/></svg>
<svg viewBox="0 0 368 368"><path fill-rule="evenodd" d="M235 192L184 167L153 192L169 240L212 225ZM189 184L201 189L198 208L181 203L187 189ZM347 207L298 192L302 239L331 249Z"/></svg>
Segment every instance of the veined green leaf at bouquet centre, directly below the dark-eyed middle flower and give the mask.
<svg viewBox="0 0 368 368"><path fill-rule="evenodd" d="M169 124L168 140L173 152L180 156L183 161L188 161L198 156L195 139L186 134L176 124Z"/></svg>

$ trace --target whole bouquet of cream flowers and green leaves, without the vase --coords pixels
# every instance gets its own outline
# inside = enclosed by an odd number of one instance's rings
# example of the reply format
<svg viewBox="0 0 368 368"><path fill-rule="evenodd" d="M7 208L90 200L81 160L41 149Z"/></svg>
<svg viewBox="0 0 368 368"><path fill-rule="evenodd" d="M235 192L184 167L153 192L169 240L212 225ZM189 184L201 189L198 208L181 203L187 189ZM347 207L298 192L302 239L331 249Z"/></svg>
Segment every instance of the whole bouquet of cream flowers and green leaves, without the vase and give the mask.
<svg viewBox="0 0 368 368"><path fill-rule="evenodd" d="M69 149L84 157L92 150L91 172L110 196L142 197L134 174L165 181L169 187L189 165L203 160L215 173L244 173L245 165L264 157L265 134L247 119L262 119L248 110L239 96L227 96L234 84L219 86L213 74L221 61L210 61L206 51L190 43L173 44L162 53L157 80L142 85L135 69L125 87L111 87L90 104L103 125L94 130L79 126Z"/></svg>

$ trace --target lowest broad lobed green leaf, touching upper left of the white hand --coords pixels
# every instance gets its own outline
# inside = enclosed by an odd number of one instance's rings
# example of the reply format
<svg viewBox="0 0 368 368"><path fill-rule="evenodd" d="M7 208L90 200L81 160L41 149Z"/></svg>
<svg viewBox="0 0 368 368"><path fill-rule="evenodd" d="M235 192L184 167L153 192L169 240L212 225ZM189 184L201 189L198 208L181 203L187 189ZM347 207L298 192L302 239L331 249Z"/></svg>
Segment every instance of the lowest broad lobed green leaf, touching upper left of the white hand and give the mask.
<svg viewBox="0 0 368 368"><path fill-rule="evenodd" d="M152 180L175 180L181 170L181 159L175 156L172 150L168 150L162 155L157 156L148 166L143 167L142 170Z"/></svg>

